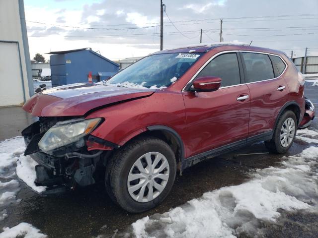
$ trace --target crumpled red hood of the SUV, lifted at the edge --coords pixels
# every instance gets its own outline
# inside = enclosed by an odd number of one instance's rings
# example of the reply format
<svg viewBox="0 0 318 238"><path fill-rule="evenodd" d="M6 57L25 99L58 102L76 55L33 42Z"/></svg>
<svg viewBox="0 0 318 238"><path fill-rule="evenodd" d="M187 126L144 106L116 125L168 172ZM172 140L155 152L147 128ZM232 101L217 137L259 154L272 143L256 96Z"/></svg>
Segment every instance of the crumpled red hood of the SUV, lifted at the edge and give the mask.
<svg viewBox="0 0 318 238"><path fill-rule="evenodd" d="M155 91L95 83L69 84L35 94L23 105L23 110L37 117L82 116L94 108L147 97Z"/></svg>

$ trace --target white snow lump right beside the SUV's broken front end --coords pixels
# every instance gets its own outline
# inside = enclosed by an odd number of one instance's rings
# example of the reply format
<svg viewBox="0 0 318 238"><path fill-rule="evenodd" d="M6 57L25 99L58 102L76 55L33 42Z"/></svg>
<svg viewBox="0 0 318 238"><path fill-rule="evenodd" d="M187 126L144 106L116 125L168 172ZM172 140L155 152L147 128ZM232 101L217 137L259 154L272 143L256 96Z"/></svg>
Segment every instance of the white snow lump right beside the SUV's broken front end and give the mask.
<svg viewBox="0 0 318 238"><path fill-rule="evenodd" d="M36 179L35 166L38 165L30 156L20 155L17 161L16 174L29 187L36 192L43 192L46 186L36 186L34 181Z"/></svg>

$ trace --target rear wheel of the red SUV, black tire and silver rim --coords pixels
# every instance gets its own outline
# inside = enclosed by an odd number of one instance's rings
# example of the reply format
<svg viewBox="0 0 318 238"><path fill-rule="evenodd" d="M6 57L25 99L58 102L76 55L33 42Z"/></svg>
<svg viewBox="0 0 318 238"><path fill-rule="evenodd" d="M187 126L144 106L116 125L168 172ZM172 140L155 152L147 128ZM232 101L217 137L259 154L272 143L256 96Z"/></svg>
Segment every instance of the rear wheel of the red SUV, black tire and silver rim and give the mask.
<svg viewBox="0 0 318 238"><path fill-rule="evenodd" d="M291 124L294 123L294 134L292 137L290 136L287 139L287 141L285 140L286 143L282 143L281 142L281 135L283 136L283 133L285 133L283 131L284 130L283 126L284 126L285 130L289 131L289 128L286 127L286 124L284 124L285 122L287 122L287 125L289 122L291 122ZM292 126L290 128L292 128ZM290 131L292 131L292 130L290 130ZM292 111L283 112L283 114L279 117L279 119L276 123L276 127L275 127L274 133L273 133L273 138L269 141L265 141L266 148L272 153L276 153L276 154L286 153L294 143L296 131L297 131L297 119L296 119L296 115L294 114L294 112L292 112ZM288 137L288 135L292 135L292 133L288 132L286 137ZM284 139L283 139L283 142L284 142Z"/></svg>

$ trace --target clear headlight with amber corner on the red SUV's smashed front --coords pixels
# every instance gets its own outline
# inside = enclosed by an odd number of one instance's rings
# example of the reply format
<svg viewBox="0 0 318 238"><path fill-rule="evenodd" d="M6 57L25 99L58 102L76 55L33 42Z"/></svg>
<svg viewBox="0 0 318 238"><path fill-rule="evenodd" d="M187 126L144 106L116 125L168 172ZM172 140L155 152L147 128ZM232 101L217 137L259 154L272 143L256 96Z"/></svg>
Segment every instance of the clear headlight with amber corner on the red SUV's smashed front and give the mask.
<svg viewBox="0 0 318 238"><path fill-rule="evenodd" d="M50 154L52 150L76 142L96 128L101 118L59 121L52 126L38 143L39 148Z"/></svg>

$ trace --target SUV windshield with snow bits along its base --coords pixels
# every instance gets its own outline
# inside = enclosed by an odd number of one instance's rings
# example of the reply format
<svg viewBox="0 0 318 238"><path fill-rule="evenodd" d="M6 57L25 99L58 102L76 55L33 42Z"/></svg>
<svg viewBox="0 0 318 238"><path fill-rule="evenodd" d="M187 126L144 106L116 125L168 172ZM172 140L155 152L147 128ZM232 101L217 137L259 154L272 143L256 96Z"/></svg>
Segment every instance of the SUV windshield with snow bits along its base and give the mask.
<svg viewBox="0 0 318 238"><path fill-rule="evenodd" d="M148 56L104 82L129 88L166 88L178 80L201 54L169 53Z"/></svg>

